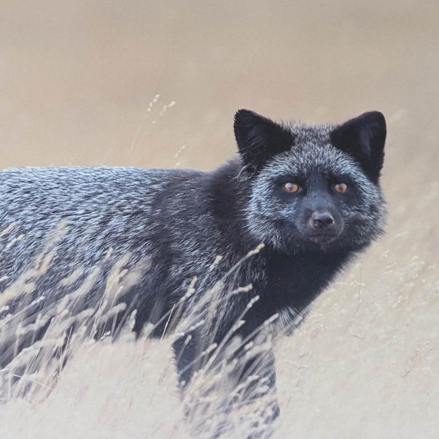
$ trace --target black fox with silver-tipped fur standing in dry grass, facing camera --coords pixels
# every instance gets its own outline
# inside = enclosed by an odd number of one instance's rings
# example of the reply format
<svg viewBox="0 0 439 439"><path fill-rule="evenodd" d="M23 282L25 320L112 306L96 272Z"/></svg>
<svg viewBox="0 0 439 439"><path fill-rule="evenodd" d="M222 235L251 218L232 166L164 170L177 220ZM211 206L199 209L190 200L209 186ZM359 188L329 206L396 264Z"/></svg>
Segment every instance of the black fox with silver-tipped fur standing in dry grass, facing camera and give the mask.
<svg viewBox="0 0 439 439"><path fill-rule="evenodd" d="M286 327L381 235L385 134L380 112L309 126L239 110L239 154L211 172L1 171L0 324L11 330L15 313L36 324L40 311L84 282L79 308L69 312L95 307L119 263L134 276L119 283L113 302L123 306L95 335L117 333L131 317L138 335L148 323L151 335L163 336L195 308L201 320L178 329L174 343L185 387L231 335L248 342L269 319L271 328ZM5 341L0 367L43 337L51 318L19 344ZM258 362L250 357L238 383ZM265 362L271 387L273 368Z"/></svg>

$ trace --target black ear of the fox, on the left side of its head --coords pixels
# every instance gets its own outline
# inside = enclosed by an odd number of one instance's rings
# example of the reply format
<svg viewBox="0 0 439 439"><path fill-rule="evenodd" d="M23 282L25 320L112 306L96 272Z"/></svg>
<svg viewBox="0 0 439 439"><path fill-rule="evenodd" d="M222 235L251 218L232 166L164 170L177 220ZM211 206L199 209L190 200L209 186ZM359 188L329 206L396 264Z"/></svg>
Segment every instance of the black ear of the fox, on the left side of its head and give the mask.
<svg viewBox="0 0 439 439"><path fill-rule="evenodd" d="M242 163L252 171L294 143L294 135L287 128L250 110L236 112L234 129Z"/></svg>

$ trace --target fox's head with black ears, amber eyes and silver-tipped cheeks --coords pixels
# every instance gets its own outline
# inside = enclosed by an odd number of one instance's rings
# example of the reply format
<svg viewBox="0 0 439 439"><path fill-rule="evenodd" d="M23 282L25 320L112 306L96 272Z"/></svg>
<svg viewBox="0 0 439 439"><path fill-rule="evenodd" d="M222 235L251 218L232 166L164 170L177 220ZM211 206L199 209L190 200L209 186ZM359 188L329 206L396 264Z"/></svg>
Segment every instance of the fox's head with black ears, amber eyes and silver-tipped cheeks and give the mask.
<svg viewBox="0 0 439 439"><path fill-rule="evenodd" d="M285 252L359 250L382 233L381 113L286 126L239 110L235 134L250 179L247 226L258 241Z"/></svg>

